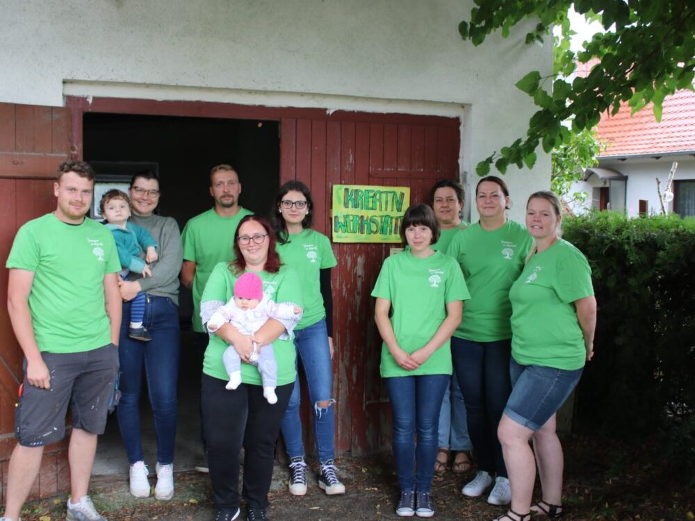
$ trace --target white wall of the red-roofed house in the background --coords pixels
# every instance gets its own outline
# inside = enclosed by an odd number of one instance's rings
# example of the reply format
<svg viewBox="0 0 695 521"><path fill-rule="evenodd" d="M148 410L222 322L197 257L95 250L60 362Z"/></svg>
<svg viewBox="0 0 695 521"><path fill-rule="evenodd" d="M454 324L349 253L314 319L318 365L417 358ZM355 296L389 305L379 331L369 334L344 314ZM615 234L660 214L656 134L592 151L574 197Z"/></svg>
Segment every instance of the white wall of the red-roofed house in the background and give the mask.
<svg viewBox="0 0 695 521"><path fill-rule="evenodd" d="M666 188L671 163L678 161L675 181L695 179L695 158L693 156L662 156L659 159L647 158L628 158L626 160L605 158L600 160L601 168L617 170L627 176L626 190L626 211L630 217L639 214L639 201L648 201L649 213L660 213L661 204L657 193L656 179L661 180L662 191ZM575 183L571 192L584 191L589 193L589 197L584 204L571 204L575 213L584 213L591 207L591 188L599 186L600 179L591 176L589 182ZM673 203L664 204L667 211L673 211Z"/></svg>

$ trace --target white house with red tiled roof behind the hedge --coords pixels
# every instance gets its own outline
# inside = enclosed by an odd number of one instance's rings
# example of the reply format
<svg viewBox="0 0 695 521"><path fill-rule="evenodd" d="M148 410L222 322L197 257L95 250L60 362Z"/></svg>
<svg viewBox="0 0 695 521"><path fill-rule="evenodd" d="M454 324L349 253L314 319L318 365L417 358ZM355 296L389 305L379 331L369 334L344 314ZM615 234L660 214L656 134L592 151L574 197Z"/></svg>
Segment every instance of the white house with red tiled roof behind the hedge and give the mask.
<svg viewBox="0 0 695 521"><path fill-rule="evenodd" d="M680 90L664 99L660 123L651 106L631 117L623 104L616 115L601 118L598 136L607 149L598 165L584 172L584 181L573 185L571 193L588 195L583 202L569 201L574 213L589 208L624 211L630 217L660 213L657 179L664 192L676 161L673 200L664 202L664 208L682 217L695 215L695 92Z"/></svg>

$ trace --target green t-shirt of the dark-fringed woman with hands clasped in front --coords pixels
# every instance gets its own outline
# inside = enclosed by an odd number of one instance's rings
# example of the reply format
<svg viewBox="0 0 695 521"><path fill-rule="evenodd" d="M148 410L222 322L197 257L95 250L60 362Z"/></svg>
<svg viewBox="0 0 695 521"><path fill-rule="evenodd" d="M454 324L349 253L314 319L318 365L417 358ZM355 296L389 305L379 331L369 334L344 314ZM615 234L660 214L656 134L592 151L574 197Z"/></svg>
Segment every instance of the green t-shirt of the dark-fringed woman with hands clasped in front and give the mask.
<svg viewBox="0 0 695 521"><path fill-rule="evenodd" d="M466 281L454 259L434 252L417 258L410 251L384 260L372 297L391 301L391 325L398 345L407 353L423 347L446 318L446 304L470 299ZM447 340L414 371L400 367L386 342L382 344L381 375L451 374L451 342Z"/></svg>

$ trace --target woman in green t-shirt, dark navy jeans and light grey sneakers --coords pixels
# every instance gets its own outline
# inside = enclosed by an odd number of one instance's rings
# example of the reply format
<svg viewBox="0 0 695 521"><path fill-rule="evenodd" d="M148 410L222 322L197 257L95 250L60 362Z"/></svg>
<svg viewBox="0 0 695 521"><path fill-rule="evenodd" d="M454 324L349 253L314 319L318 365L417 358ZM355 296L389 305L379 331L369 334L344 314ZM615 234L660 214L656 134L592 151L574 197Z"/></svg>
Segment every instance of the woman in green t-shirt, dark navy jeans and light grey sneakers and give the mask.
<svg viewBox="0 0 695 521"><path fill-rule="evenodd" d="M478 468L461 493L477 497L492 486L487 502L496 505L511 500L507 468L496 436L512 390L509 288L521 273L531 246L531 236L523 226L507 219L509 203L509 190L502 179L480 179L475 187L480 220L459 231L447 249L461 266L471 291L461 325L451 340Z"/></svg>

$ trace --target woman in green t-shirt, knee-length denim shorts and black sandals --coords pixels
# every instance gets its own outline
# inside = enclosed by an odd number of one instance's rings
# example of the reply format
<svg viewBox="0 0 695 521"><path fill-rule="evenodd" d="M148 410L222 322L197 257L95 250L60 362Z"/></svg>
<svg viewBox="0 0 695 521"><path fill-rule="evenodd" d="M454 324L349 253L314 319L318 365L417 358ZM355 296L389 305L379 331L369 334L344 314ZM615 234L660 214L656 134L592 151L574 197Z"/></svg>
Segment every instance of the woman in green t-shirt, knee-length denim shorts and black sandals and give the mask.
<svg viewBox="0 0 695 521"><path fill-rule="evenodd" d="M498 427L512 483L512 506L496 521L527 521L532 511L550 519L563 513L564 462L555 414L594 356L596 298L587 258L560 238L561 224L557 195L544 191L529 197L526 228L534 247L509 290L509 372L514 387ZM531 505L536 463L543 495Z"/></svg>

